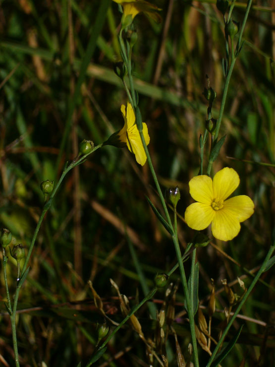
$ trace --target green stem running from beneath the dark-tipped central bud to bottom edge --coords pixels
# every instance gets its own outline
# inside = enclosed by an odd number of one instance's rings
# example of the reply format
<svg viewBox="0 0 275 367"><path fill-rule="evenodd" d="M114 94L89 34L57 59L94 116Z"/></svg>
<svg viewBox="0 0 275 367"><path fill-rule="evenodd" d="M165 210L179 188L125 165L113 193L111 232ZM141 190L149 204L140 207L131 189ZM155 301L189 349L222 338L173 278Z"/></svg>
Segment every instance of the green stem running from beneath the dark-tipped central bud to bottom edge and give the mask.
<svg viewBox="0 0 275 367"><path fill-rule="evenodd" d="M193 344L193 354L194 354L195 367L199 367L200 364L199 364L197 339L196 339L196 332L195 332L194 313L193 313L193 308L192 308L192 301L190 300L190 297L189 297L187 280L186 280L186 276L185 276L183 262L181 260L181 252L180 252L180 247L179 247L178 238L177 238L177 217L176 217L176 209L175 208L174 208L174 236L172 236L172 240L173 240L173 244L175 246L177 262L178 262L178 265L179 265L180 278L181 278L181 283L182 283L182 286L183 286L184 297L185 297L185 306L186 306L188 316L189 316L189 323L190 323L191 338L192 338L192 344Z"/></svg>

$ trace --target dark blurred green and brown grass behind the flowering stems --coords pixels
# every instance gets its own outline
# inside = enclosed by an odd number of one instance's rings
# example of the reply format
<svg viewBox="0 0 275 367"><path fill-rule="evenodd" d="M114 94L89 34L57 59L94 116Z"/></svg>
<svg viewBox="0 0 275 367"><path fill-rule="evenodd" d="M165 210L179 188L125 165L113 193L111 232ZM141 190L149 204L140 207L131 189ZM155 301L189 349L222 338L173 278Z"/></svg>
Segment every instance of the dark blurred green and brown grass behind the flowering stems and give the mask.
<svg viewBox="0 0 275 367"><path fill-rule="evenodd" d="M102 2L109 2L104 17L99 14ZM194 235L183 216L192 202L188 181L200 166L198 141L207 117L207 101L202 95L208 86L206 74L217 92L214 118L218 117L223 90L223 20L211 0L154 3L163 9L163 21L156 24L143 14L136 16L138 39L132 58L158 178L163 190L180 188L178 232L184 249ZM242 21L245 6L236 3L234 20ZM112 63L120 60L116 38L120 17L117 4L109 0L0 3L0 224L12 232L14 244L26 248L30 244L44 202L40 183L56 182L65 162L77 156L81 140L91 139L97 145L123 126L120 106L127 98L112 70ZM92 58L87 59L89 53ZM227 305L221 279L235 281L232 290L241 295L236 277L242 277L248 286L251 277L244 268L257 268L271 244L275 221L274 59L275 1L255 1L229 87L220 135L226 134L226 140L214 172L234 168L241 179L237 193L249 195L256 210L233 241L214 239L197 252L202 306L208 305L211 279L216 288L220 312L213 317L214 337ZM17 336L22 366L70 367L88 362L97 341L97 323L104 321L88 280L109 317L116 321L123 317L110 278L131 306L144 297L127 237L149 289L157 272L167 272L176 263L169 236L145 195L159 207L148 167L138 166L127 149L105 146L65 178L44 219L31 271L21 290ZM189 261L185 266L188 274ZM16 266L11 257L7 271L12 294ZM177 278L175 272L170 281L175 283ZM234 323L236 329L241 323L244 327L223 367L275 365L273 269L265 272L262 280L265 284L257 284L242 309L248 319ZM158 309L164 299L165 291L155 295ZM1 272L0 365L13 366L4 300ZM174 325L188 360L190 334L188 322L180 315L182 302L179 287ZM147 305L137 316L145 338L153 339L154 322ZM177 353L171 334L169 366L177 366ZM208 358L201 350L202 366ZM154 363L158 365L156 360ZM108 344L97 366L149 366L145 344L125 327Z"/></svg>

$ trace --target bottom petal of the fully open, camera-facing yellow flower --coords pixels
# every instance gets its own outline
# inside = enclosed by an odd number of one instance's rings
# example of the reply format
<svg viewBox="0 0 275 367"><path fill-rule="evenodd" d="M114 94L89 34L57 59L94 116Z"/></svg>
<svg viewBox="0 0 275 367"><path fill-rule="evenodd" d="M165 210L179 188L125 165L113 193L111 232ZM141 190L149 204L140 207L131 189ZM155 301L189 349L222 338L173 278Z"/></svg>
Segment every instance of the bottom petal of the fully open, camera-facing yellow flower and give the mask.
<svg viewBox="0 0 275 367"><path fill-rule="evenodd" d="M240 229L240 222L234 214L224 207L216 211L211 226L215 238L221 241L232 240L240 232Z"/></svg>

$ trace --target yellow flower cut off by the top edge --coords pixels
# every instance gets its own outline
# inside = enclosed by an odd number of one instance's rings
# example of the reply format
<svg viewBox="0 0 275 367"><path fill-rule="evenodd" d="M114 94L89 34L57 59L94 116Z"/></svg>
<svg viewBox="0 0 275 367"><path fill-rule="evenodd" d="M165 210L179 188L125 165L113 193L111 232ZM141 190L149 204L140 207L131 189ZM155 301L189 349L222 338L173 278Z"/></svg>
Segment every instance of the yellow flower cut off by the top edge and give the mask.
<svg viewBox="0 0 275 367"><path fill-rule="evenodd" d="M150 4L148 1L144 0L113 0L118 4L123 6L123 15L126 17L127 15L132 15L132 18L140 13L144 12L150 18L154 19L156 22L161 21L161 16L156 11L161 10L156 5Z"/></svg>

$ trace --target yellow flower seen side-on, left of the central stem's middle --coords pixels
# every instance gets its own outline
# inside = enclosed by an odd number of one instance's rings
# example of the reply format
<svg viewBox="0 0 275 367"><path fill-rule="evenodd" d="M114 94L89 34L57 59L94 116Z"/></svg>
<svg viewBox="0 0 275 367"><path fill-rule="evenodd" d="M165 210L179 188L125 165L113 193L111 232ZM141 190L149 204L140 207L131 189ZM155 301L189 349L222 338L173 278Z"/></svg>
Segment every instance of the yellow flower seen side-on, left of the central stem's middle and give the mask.
<svg viewBox="0 0 275 367"><path fill-rule="evenodd" d="M146 162L146 154L142 145L141 137L139 135L137 125L135 123L136 117L131 104L127 103L127 109L124 105L121 105L120 111L124 118L124 126L118 131L119 140L122 143L126 143L130 152L136 156L136 161L140 165L144 166ZM142 122L142 132L146 145L149 144L150 136L148 134L148 128L145 122Z"/></svg>

